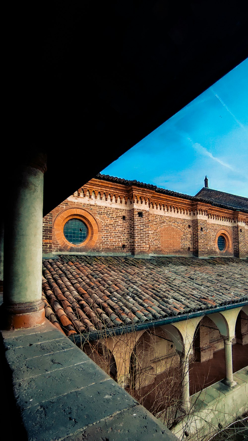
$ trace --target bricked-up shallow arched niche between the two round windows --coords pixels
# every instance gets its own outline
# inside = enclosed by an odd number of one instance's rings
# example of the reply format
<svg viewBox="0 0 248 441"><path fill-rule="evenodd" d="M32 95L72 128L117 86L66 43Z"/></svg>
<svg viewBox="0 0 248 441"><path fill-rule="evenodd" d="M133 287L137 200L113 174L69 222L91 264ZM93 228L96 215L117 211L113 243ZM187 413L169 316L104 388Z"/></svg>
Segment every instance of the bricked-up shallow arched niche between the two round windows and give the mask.
<svg viewBox="0 0 248 441"><path fill-rule="evenodd" d="M181 237L183 232L172 225L166 225L160 229L160 246L163 254L180 252Z"/></svg>

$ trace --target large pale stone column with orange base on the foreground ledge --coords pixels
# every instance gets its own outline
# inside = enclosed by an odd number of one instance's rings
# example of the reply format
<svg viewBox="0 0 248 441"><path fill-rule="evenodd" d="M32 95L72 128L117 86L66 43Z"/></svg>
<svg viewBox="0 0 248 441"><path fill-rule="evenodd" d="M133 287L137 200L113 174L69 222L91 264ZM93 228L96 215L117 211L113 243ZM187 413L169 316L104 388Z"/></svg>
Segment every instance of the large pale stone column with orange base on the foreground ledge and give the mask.
<svg viewBox="0 0 248 441"><path fill-rule="evenodd" d="M5 202L5 329L29 328L45 321L41 300L42 208L45 154L32 149L11 175Z"/></svg>

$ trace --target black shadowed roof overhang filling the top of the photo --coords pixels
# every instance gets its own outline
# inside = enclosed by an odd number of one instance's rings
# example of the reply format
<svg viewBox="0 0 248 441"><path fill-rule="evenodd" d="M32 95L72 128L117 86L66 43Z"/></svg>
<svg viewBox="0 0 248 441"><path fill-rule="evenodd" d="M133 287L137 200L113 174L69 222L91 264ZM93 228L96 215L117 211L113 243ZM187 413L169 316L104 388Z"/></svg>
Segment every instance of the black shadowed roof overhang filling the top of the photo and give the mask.
<svg viewBox="0 0 248 441"><path fill-rule="evenodd" d="M8 100L18 142L7 164L46 150L44 214L247 58L246 7L20 4Z"/></svg>

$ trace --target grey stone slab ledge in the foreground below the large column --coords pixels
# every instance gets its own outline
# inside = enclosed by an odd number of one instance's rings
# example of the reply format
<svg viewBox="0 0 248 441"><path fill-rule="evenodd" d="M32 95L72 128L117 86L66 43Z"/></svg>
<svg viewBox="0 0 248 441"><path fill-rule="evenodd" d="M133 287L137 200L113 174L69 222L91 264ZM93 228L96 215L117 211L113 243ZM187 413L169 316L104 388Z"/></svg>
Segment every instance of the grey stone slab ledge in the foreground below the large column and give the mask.
<svg viewBox="0 0 248 441"><path fill-rule="evenodd" d="M27 440L177 440L48 321L2 338Z"/></svg>

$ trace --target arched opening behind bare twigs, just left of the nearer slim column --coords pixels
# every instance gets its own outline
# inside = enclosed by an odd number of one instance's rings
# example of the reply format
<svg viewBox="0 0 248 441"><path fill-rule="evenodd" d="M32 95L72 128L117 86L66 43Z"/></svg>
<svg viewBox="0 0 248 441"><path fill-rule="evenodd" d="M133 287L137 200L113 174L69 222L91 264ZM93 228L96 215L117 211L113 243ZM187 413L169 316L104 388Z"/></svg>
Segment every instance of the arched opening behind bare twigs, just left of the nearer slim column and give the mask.
<svg viewBox="0 0 248 441"><path fill-rule="evenodd" d="M175 404L181 390L180 355L164 328L143 333L130 358L128 392L154 415Z"/></svg>

